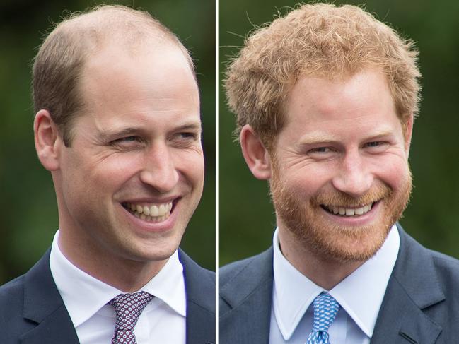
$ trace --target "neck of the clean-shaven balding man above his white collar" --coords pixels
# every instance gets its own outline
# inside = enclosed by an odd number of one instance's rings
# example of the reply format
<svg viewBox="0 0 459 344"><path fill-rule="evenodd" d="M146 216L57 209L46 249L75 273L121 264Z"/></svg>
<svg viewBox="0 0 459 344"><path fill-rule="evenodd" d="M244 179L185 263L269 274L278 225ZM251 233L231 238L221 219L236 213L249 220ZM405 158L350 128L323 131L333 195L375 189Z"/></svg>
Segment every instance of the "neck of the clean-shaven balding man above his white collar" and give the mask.
<svg viewBox="0 0 459 344"><path fill-rule="evenodd" d="M136 292L144 287L168 261L136 261L108 251L81 244L71 235L59 230L59 249L74 266L88 275L121 290Z"/></svg>

